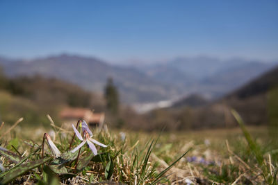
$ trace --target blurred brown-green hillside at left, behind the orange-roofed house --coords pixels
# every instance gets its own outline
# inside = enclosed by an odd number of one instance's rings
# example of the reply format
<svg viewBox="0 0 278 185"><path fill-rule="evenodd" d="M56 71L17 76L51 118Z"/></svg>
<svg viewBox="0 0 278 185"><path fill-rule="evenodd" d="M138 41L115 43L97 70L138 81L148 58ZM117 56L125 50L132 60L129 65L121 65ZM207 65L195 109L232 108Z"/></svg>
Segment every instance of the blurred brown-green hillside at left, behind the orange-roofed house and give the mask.
<svg viewBox="0 0 278 185"><path fill-rule="evenodd" d="M47 114L59 121L59 111L65 106L104 109L101 96L62 80L41 76L6 78L2 74L0 81L0 121L8 124L20 117L24 124L47 124Z"/></svg>

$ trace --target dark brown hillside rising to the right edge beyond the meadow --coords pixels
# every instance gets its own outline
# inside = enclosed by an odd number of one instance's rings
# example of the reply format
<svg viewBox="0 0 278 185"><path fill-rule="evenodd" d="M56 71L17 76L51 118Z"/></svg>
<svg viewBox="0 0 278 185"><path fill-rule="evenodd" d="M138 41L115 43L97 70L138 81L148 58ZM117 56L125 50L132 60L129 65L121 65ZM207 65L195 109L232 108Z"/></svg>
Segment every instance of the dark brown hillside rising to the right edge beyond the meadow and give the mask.
<svg viewBox="0 0 278 185"><path fill-rule="evenodd" d="M148 113L149 123L158 126L167 119L168 129L176 130L238 126L231 109L235 109L248 125L276 123L277 97L278 65L217 100L206 102L195 94L177 101L172 107L154 109Z"/></svg>

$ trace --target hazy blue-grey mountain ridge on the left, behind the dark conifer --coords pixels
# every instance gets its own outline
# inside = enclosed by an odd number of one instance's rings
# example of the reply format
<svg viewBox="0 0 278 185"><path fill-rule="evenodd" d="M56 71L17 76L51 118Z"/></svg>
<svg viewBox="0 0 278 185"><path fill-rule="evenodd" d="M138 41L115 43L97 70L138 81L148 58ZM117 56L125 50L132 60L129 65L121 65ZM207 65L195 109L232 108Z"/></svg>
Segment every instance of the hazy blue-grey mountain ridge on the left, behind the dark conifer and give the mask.
<svg viewBox="0 0 278 185"><path fill-rule="evenodd" d="M171 93L167 90L167 85L148 78L136 69L113 66L96 58L58 55L28 61L2 59L0 64L8 76L30 76L40 73L42 76L74 82L92 91L103 91L107 78L113 77L125 103L161 100L169 97Z"/></svg>

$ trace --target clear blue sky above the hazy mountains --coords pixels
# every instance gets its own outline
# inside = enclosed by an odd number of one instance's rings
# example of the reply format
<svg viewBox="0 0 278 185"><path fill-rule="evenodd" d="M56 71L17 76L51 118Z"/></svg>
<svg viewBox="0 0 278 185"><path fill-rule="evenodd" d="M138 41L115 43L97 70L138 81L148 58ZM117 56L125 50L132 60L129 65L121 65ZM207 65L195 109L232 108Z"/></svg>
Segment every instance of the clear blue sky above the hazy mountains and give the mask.
<svg viewBox="0 0 278 185"><path fill-rule="evenodd" d="M278 1L0 1L0 55L278 59Z"/></svg>

